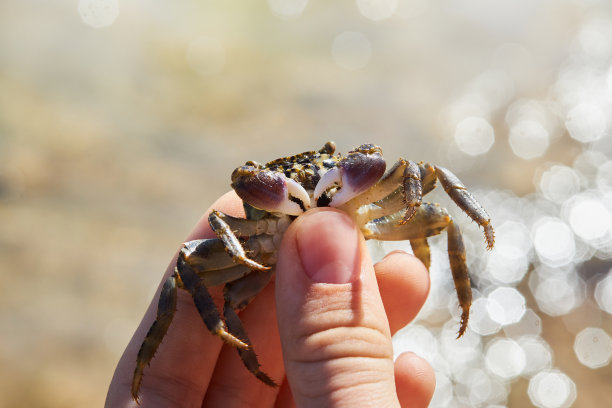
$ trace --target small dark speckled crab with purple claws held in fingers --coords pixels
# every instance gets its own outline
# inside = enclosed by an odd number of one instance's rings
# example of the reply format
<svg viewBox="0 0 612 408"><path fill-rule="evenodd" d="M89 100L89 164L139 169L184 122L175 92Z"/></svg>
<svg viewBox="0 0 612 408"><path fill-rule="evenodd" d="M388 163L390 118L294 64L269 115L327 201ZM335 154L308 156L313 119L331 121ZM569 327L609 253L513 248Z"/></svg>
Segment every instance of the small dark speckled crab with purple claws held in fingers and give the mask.
<svg viewBox="0 0 612 408"><path fill-rule="evenodd" d="M461 232L448 211L422 197L439 181L448 196L484 230L487 249L495 241L482 206L449 170L400 158L386 170L382 150L361 145L346 156L333 142L318 151L284 157L264 165L248 161L232 173L231 186L242 199L246 218L213 210L208 217L217 238L183 244L174 273L165 281L157 317L138 352L132 397L138 394L145 367L153 359L176 311L177 290L189 292L208 330L234 346L246 368L263 383L277 384L260 369L238 312L268 284L278 248L291 222L314 207L346 212L365 239L408 240L429 269L427 238L446 230L448 257L461 308L457 338L466 329L472 303L470 277ZM224 285L223 317L208 288Z"/></svg>

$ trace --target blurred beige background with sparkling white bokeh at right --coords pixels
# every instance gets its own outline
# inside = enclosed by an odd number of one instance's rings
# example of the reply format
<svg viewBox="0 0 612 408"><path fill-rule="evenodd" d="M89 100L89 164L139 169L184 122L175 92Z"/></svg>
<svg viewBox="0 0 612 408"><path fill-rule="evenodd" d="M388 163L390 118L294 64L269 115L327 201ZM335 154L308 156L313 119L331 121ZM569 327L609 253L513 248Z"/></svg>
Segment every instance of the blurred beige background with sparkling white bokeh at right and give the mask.
<svg viewBox="0 0 612 408"><path fill-rule="evenodd" d="M0 2L0 406L101 406L231 171L328 140L446 166L492 216L487 252L428 198L475 287L457 341L432 239L394 345L434 366L433 407L609 406L611 68L607 1Z"/></svg>

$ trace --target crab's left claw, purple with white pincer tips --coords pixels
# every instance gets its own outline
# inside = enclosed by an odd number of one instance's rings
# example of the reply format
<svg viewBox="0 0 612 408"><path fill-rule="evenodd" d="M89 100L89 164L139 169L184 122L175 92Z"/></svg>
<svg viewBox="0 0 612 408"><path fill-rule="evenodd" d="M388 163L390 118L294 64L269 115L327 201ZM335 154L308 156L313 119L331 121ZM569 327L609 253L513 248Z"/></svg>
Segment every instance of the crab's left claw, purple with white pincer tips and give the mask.
<svg viewBox="0 0 612 408"><path fill-rule="evenodd" d="M242 200L264 211L300 215L310 208L304 187L276 171L238 167L232 173L232 188Z"/></svg>

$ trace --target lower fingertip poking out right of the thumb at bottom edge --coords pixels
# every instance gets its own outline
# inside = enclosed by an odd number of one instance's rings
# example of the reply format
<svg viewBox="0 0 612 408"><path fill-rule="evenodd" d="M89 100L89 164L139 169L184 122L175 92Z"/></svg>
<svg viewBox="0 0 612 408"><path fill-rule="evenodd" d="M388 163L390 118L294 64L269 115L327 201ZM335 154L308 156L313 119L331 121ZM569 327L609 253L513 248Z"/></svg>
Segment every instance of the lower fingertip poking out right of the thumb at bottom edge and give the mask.
<svg viewBox="0 0 612 408"><path fill-rule="evenodd" d="M433 368L414 353L395 360L395 387L402 407L427 407L436 388Z"/></svg>

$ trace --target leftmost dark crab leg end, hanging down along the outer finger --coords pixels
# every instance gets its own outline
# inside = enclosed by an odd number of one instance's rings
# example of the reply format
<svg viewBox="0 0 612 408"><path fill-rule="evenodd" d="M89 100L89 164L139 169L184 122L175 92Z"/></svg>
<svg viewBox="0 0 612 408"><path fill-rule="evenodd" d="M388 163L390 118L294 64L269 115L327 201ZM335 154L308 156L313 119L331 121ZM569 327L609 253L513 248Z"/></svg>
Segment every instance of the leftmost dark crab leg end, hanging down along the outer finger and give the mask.
<svg viewBox="0 0 612 408"><path fill-rule="evenodd" d="M134 370L134 377L132 379L132 397L137 403L138 392L140 390L140 384L142 382L142 373L145 366L148 366L157 348L159 347L162 339L170 327L172 318L176 311L176 287L177 287L177 274L176 272L166 279L164 286L162 287L159 295L159 302L157 305L157 317L149 328L147 335L145 336L140 350L138 350L138 357L136 358L136 368Z"/></svg>

